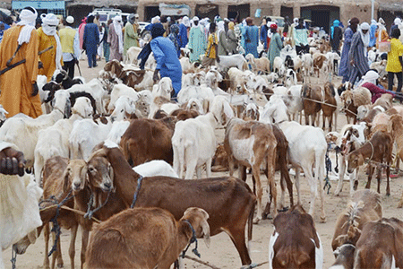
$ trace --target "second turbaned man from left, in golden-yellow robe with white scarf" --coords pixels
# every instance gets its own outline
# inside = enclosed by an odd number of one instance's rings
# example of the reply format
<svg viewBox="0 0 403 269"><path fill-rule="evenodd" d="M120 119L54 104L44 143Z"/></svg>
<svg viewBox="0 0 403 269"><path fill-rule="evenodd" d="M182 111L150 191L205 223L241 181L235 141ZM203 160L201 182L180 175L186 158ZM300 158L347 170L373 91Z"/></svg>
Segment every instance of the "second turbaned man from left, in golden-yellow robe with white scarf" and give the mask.
<svg viewBox="0 0 403 269"><path fill-rule="evenodd" d="M38 29L39 36L39 52L50 48L43 52L39 59L43 64L43 68L39 69L39 74L47 76L47 82L52 79L55 70L62 70L62 45L59 36L57 35L56 27L59 24L59 19L55 14L48 13L42 19L42 27ZM53 48L51 48L53 47Z"/></svg>

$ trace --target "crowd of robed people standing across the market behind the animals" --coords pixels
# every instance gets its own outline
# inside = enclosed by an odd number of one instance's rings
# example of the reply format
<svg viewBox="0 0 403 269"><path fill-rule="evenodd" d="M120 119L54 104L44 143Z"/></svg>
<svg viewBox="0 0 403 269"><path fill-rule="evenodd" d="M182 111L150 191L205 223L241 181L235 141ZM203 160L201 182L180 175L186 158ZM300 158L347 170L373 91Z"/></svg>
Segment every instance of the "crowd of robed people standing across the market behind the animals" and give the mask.
<svg viewBox="0 0 403 269"><path fill-rule="evenodd" d="M0 80L0 103L9 112L8 117L19 112L30 117L41 114L36 83L38 74L46 75L47 81L50 81L55 70L63 68L73 78L74 66L78 65L83 52L87 56L88 67L92 68L101 58L105 58L106 62L124 60L131 47L142 48L139 55L141 68L153 52L157 61L154 79L169 76L175 88L173 97L181 89L182 74L179 71L182 69L178 60L181 48L188 48L191 63L200 62L204 67L219 62L220 56L241 53L259 57L266 53L272 70L274 58L280 56L284 44L295 48L296 54L309 53L309 37L330 39L332 50L341 57L339 76L342 82L354 84L362 81L364 74L370 70L368 51L371 48L384 51L382 58L387 59L388 90L400 92L402 88L403 37L400 30L403 30L403 23L399 18L389 33L382 18L378 22L373 20L371 24L360 24L357 18L352 18L346 29L342 22L335 20L328 35L324 30L313 30L303 18L289 22L286 17L284 28L279 30L278 22L271 21L270 17L263 18L258 27L251 17L236 23L236 20L221 19L219 16L214 20L197 16L192 20L187 16L178 20L167 17L161 22L161 18L156 16L148 26L151 41L141 39L138 20L137 14L131 14L124 25L122 17L116 15L113 20L100 23L99 14L90 13L81 21L78 30L74 30L72 16L62 20L61 25L55 14L42 14L38 18L37 11L28 7L21 11L20 22L13 25L2 22L0 36L4 46L0 50L0 65L6 72ZM260 42L262 49L259 51ZM397 88L393 83L395 76ZM16 77L19 78L17 83ZM13 91L9 90L11 84ZM17 94L15 89L18 89Z"/></svg>

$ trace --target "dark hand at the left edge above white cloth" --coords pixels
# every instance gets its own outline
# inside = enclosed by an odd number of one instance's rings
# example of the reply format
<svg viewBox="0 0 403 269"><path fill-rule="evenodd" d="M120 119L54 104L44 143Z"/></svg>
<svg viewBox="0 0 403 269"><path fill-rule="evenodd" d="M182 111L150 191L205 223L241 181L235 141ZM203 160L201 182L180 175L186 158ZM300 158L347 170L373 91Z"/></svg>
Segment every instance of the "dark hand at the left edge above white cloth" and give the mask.
<svg viewBox="0 0 403 269"><path fill-rule="evenodd" d="M5 148L0 152L0 173L5 175L24 175L25 168L24 154L13 148Z"/></svg>

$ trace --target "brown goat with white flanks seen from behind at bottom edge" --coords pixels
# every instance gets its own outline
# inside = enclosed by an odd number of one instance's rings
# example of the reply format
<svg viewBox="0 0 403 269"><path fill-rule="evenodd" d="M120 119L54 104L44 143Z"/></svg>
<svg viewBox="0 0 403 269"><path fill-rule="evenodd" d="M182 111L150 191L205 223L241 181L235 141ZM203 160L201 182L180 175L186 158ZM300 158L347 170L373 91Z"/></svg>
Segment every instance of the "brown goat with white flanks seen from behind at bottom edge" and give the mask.
<svg viewBox="0 0 403 269"><path fill-rule="evenodd" d="M269 268L322 268L323 248L313 218L301 205L273 221Z"/></svg>

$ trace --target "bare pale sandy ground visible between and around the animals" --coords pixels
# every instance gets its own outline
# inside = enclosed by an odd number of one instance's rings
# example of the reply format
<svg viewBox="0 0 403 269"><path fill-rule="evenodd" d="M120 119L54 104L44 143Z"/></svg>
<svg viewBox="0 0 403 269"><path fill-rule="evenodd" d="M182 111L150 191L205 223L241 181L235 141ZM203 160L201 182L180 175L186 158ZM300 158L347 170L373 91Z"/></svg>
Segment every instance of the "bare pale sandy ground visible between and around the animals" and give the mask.
<svg viewBox="0 0 403 269"><path fill-rule="evenodd" d="M90 79L94 78L99 70L103 67L104 61L99 62L99 66L96 68L89 69L87 65L87 61L81 60L81 72L82 75L90 81ZM76 70L76 75L78 75L78 71ZM316 79L313 79L312 82L317 82ZM339 78L334 78L333 82L336 85L339 85ZM340 115L338 119L338 130L341 126L346 123L346 117L344 115ZM223 130L219 130L219 137L223 137ZM213 173L214 177L218 177L221 175L227 175L227 173ZM360 173L361 178L359 181L358 189L363 189L366 184L366 176L364 172ZM293 178L293 177L292 177ZM279 186L279 175L276 174L276 182ZM251 176L248 175L247 183L252 186ZM262 175L262 185L265 186L267 184L267 179ZM339 196L333 195L333 192L336 188L337 182L331 182L330 194L325 195L325 212L327 214L326 223L320 223L319 218L319 204L320 200L316 201L315 215L313 219L315 221L316 229L322 239L322 246L324 250L324 264L323 268L329 268L330 265L334 262L334 256L332 254L332 250L330 247L331 239L333 237L334 227L336 219L347 205L349 200L349 183L346 181L343 187L343 191ZM399 219L403 219L403 210L398 209L397 205L399 203L400 195L403 191L403 178L391 178L390 179L390 189L391 195L385 195L386 183L382 181L381 193L382 193L382 205L383 205L383 215L385 217L397 217ZM278 187L279 189L279 187ZM373 180L373 190L376 190L376 180ZM310 191L307 184L307 180L305 178L301 178L301 191L302 191L302 204L306 210L309 209L309 200L310 200ZM266 194L266 193L265 193ZM294 188L294 195L296 195L296 188ZM267 195L265 195L264 199L267 199ZM288 197L286 198L286 203L288 205ZM295 200L296 201L296 200ZM271 220L261 221L258 225L253 225L253 240L251 244L250 253L252 256L253 263L261 264L268 261L268 246L270 234L273 231L273 225ZM80 231L79 231L80 233ZM76 241L76 256L75 256L75 268L80 268L80 251L81 251L81 235L77 237ZM63 230L61 235L62 242L62 251L64 257L64 267L70 268L70 258L68 256L68 246L70 241L70 232L68 230ZM17 268L25 269L25 268L41 268L44 259L44 240L43 235L37 239L37 242L30 246L27 252L22 256L17 256ZM192 247L193 248L193 247ZM191 249L192 249L191 248ZM201 253L201 260L204 262L210 263L210 265L215 265L218 268L240 268L241 260L237 254L236 247L232 244L231 240L227 236L227 234L220 233L217 236L211 238L210 248L207 248L206 245L199 241L199 252ZM189 251L187 253L189 256L193 256L193 253ZM3 253L5 268L12 268L12 265L9 261L11 258L11 249L7 249ZM189 259L184 260L185 268L210 268L207 265L201 265L197 262L193 262ZM258 268L269 268L269 265L266 263L264 265L259 266Z"/></svg>

